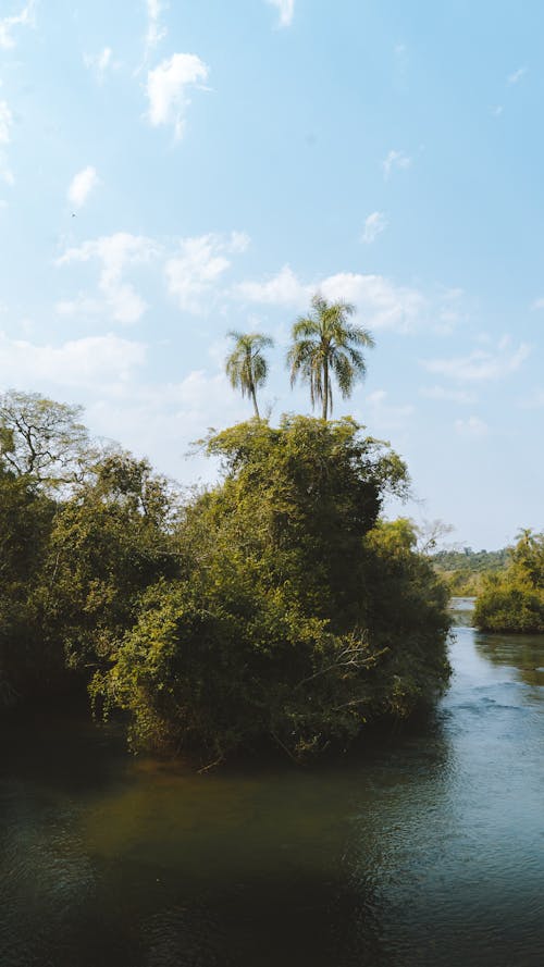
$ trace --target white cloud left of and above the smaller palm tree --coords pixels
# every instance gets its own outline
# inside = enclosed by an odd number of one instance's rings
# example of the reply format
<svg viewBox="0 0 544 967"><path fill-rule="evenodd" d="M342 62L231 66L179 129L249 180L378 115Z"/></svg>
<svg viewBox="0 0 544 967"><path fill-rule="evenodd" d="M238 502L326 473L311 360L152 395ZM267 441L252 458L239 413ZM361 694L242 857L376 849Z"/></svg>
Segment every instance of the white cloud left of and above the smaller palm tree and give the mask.
<svg viewBox="0 0 544 967"><path fill-rule="evenodd" d="M178 252L166 261L168 288L181 309L201 312L202 299L210 293L231 265L230 255L244 251L249 238L240 232L230 237L200 235L183 238Z"/></svg>

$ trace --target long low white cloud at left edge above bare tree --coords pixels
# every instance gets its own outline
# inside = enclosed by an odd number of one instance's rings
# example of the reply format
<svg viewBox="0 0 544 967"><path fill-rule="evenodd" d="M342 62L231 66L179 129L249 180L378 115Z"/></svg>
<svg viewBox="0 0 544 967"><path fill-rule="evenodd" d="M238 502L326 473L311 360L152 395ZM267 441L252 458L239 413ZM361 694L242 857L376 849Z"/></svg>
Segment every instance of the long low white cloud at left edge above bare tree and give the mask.
<svg viewBox="0 0 544 967"><path fill-rule="evenodd" d="M78 388L125 383L145 358L141 343L112 334L39 346L0 333L0 377L4 386L53 383Z"/></svg>

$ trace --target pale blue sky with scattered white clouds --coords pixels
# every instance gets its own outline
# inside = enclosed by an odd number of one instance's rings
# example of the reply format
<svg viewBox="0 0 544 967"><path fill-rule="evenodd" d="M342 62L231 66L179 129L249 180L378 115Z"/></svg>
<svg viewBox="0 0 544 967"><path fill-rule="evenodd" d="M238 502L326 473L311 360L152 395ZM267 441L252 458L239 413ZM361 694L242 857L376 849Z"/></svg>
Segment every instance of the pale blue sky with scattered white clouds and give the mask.
<svg viewBox="0 0 544 967"><path fill-rule="evenodd" d="M0 389L85 407L184 484L261 409L310 413L311 296L371 331L350 413L449 543L544 528L540 0L0 0Z"/></svg>

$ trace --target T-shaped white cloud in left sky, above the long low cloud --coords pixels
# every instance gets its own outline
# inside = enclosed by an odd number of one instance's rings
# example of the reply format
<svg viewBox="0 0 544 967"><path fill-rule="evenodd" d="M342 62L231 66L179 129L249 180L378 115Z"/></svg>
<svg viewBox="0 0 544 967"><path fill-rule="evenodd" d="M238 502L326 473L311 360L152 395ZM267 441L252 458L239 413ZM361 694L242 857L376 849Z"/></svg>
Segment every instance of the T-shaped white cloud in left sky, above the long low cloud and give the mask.
<svg viewBox="0 0 544 967"><path fill-rule="evenodd" d="M67 265L98 259L102 263L98 285L106 306L112 319L129 324L140 319L147 303L133 285L123 281L123 273L131 266L150 262L159 253L160 248L151 238L116 232L114 235L85 241L79 248L69 249L58 259L57 264ZM72 309L77 303L61 302L60 306Z"/></svg>

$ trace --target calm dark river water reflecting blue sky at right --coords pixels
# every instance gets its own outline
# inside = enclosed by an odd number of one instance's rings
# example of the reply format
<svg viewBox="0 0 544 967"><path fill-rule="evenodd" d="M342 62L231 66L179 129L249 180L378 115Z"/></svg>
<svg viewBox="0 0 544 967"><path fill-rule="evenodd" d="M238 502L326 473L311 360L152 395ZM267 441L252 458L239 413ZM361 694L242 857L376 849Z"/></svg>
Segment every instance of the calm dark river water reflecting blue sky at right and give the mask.
<svg viewBox="0 0 544 967"><path fill-rule="evenodd" d="M198 776L4 723L1 967L543 967L544 637L469 606L436 714L334 766Z"/></svg>

